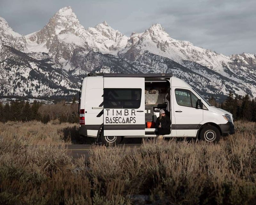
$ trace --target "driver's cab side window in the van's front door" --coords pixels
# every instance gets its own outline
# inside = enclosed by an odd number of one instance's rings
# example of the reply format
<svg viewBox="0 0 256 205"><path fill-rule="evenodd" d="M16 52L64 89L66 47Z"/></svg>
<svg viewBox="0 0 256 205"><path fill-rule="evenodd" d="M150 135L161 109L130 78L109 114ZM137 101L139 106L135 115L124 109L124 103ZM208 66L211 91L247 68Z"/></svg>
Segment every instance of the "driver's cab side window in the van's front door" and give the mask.
<svg viewBox="0 0 256 205"><path fill-rule="evenodd" d="M196 108L198 98L190 90L175 89L175 97L178 105Z"/></svg>

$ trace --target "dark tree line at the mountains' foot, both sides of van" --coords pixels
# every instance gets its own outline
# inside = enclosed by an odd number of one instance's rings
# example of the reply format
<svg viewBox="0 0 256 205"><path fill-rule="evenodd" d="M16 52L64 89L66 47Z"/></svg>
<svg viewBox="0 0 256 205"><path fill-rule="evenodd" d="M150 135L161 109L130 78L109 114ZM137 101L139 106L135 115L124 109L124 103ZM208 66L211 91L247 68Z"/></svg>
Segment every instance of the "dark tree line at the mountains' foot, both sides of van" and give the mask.
<svg viewBox="0 0 256 205"><path fill-rule="evenodd" d="M12 101L10 104L0 102L0 121L30 121L38 120L44 123L58 119L61 122L78 123L78 104L73 98L72 104L65 101L54 105L45 105L34 101L33 104L25 101ZM235 120L242 119L256 122L256 99L251 99L248 94L241 96L229 92L226 100L222 103L216 101L212 96L209 99L211 105L219 107L233 114Z"/></svg>

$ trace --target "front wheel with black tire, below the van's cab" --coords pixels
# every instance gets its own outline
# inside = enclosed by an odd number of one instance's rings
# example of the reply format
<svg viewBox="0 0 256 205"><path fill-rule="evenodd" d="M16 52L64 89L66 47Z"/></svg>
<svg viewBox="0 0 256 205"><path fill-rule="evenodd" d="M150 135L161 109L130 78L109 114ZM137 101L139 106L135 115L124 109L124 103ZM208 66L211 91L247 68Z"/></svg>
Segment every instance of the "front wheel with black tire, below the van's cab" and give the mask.
<svg viewBox="0 0 256 205"><path fill-rule="evenodd" d="M200 140L217 143L220 141L220 130L212 125L207 125L200 130Z"/></svg>

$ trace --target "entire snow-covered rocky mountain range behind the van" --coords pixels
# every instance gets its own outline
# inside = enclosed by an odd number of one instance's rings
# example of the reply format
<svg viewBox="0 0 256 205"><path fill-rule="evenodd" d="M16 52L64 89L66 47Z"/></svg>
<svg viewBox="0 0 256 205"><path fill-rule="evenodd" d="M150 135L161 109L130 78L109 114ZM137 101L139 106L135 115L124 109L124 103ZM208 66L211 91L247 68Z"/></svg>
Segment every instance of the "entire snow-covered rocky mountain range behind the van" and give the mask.
<svg viewBox="0 0 256 205"><path fill-rule="evenodd" d="M105 21L85 29L72 8L64 7L32 34L15 33L2 18L0 26L1 95L72 95L88 72L167 72L205 96L223 99L229 90L256 96L256 54L224 56L171 38L160 24L127 37ZM34 71L37 84L34 78L25 81Z"/></svg>

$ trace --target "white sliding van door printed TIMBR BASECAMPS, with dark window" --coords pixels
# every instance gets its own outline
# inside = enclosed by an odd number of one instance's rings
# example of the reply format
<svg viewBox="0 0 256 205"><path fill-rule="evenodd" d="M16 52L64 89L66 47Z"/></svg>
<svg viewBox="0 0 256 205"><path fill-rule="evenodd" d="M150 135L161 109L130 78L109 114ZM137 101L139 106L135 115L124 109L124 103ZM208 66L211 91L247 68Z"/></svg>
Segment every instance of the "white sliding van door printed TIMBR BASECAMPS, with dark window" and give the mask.
<svg viewBox="0 0 256 205"><path fill-rule="evenodd" d="M104 136L145 135L145 79L104 78Z"/></svg>

